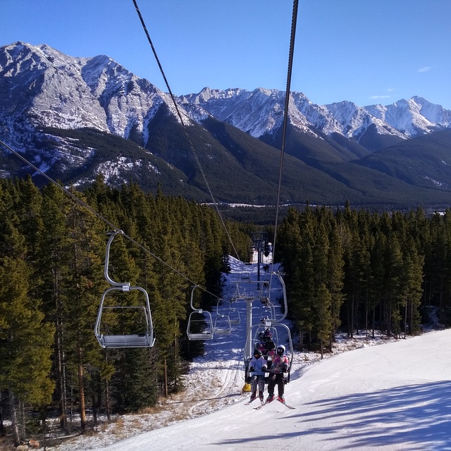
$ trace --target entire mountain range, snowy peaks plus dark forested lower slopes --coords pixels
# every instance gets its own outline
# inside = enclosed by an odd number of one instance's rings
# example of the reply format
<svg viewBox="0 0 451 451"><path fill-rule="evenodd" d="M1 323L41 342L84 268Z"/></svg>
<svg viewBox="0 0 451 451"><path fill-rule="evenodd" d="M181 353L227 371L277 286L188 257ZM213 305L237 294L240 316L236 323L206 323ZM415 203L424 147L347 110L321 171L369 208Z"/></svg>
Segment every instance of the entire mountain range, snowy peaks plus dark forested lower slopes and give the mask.
<svg viewBox="0 0 451 451"><path fill-rule="evenodd" d="M112 185L208 201L206 179L218 202L274 204L285 92L206 87L175 101L185 127L169 94L108 56L0 47L0 139L49 177L82 187L103 173ZM281 196L441 209L451 199L450 143L451 111L421 97L320 106L292 92ZM2 155L1 176L44 180Z"/></svg>

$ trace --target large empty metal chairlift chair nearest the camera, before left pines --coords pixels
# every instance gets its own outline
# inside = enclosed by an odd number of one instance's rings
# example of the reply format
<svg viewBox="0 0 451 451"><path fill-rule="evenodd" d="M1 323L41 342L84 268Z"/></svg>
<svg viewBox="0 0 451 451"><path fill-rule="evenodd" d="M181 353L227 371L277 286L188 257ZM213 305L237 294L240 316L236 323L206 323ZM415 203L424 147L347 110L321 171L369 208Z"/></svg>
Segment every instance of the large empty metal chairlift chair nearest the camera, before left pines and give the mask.
<svg viewBox="0 0 451 451"><path fill-rule="evenodd" d="M114 232L109 233L110 237L108 243L106 244L104 276L113 286L107 288L101 296L97 320L94 326L94 335L96 336L99 345L103 348L152 347L154 346L155 338L154 328L152 326L149 295L147 295L147 291L141 287L130 286L130 283L127 282L115 282L110 278L108 273L111 242L118 234L123 234L123 231L115 230ZM118 303L115 305L106 305L106 298L113 290L118 290L121 292L131 292L132 290L137 290L142 293L144 302L140 305L123 305ZM114 314L116 314L116 319L119 318L121 314L137 313L140 318L140 330L134 330L134 333L110 333L108 325L102 321L102 316L104 313L106 314L106 312L114 312Z"/></svg>

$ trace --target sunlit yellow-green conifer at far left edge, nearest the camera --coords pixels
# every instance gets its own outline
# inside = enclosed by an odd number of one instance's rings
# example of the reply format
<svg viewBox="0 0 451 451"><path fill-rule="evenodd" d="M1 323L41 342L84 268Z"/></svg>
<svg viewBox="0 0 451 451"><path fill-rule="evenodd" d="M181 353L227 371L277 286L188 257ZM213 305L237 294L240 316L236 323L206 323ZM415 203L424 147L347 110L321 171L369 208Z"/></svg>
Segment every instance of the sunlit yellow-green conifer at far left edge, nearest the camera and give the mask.
<svg viewBox="0 0 451 451"><path fill-rule="evenodd" d="M30 270L25 261L25 240L16 225L11 196L0 192L0 388L8 390L13 440L19 445L25 417L16 401L42 406L51 400L54 385L49 378L54 328L44 322L37 299L28 296Z"/></svg>

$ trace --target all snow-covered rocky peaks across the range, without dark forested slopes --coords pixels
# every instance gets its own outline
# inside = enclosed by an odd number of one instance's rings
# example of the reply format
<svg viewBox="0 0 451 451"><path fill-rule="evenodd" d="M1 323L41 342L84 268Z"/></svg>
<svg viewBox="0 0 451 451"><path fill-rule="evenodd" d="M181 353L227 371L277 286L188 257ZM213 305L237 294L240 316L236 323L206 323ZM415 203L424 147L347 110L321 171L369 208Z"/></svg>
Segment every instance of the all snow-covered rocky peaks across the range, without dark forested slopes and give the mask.
<svg viewBox="0 0 451 451"><path fill-rule="evenodd" d="M161 104L175 114L168 94L108 56L73 58L45 44L16 42L0 47L0 77L0 116L8 132L25 115L35 127L90 127L145 145L147 125ZM178 100L183 115L194 121L213 116L260 138L280 128L285 92L206 87ZM293 92L289 113L290 123L302 132L338 133L357 141L371 126L379 135L404 140L451 128L451 111L421 97L388 106L361 107L349 101L321 106Z"/></svg>

